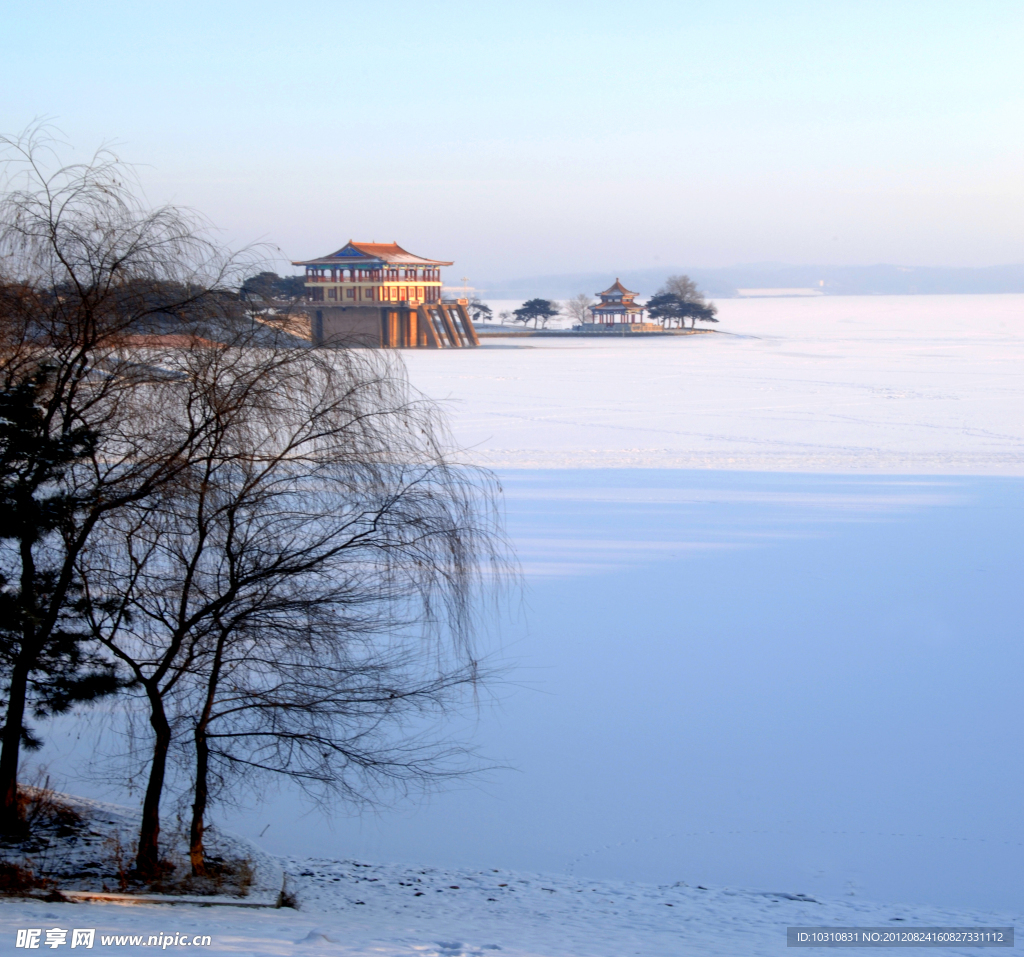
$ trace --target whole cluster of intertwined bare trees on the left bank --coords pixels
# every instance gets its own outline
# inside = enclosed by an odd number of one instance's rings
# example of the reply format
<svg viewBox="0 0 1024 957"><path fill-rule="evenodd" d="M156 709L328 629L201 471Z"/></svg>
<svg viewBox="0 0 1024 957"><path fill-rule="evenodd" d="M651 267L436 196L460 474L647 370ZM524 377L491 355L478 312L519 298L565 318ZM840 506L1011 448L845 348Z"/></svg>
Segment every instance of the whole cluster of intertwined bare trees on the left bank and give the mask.
<svg viewBox="0 0 1024 957"><path fill-rule="evenodd" d="M296 348L265 315L292 280L142 206L116 158L2 142L0 831L39 724L109 696L139 879L169 801L202 877L211 807L262 778L358 803L464 773L434 723L486 673L494 480L393 357Z"/></svg>

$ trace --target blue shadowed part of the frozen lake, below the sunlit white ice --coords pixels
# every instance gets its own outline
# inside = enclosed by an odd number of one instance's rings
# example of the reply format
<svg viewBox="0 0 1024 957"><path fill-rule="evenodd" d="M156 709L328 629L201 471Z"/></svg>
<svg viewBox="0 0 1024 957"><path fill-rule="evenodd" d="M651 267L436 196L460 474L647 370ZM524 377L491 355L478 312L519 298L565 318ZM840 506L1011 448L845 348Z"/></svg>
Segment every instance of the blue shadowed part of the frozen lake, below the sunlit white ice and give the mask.
<svg viewBox="0 0 1024 957"><path fill-rule="evenodd" d="M1016 908L1016 478L505 476L527 586L419 810L236 827L281 853Z"/></svg>

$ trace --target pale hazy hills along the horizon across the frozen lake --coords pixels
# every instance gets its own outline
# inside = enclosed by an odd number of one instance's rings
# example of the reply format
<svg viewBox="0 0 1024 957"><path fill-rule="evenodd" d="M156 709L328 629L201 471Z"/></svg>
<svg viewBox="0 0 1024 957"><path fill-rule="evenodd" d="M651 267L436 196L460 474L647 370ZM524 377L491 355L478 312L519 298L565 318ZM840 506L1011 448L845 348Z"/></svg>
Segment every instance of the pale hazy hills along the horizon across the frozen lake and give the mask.
<svg viewBox="0 0 1024 957"><path fill-rule="evenodd" d="M819 290L828 296L915 296L954 293L1024 293L1024 264L950 268L945 266L791 266L752 263L715 269L662 267L624 269L620 279L641 296L653 295L666 276L686 273L709 296L738 296L739 290ZM483 299L567 299L578 293L606 289L615 276L608 272L527 276L480 282Z"/></svg>

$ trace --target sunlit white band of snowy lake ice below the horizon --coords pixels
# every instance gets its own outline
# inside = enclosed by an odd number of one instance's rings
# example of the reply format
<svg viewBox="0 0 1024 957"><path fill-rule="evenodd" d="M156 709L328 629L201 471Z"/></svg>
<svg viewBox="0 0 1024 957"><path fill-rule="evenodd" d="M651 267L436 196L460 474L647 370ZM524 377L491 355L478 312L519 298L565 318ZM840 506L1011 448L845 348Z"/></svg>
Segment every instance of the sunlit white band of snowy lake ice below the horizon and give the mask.
<svg viewBox="0 0 1024 957"><path fill-rule="evenodd" d="M403 355L497 467L1024 474L1024 296L718 305L713 335Z"/></svg>

